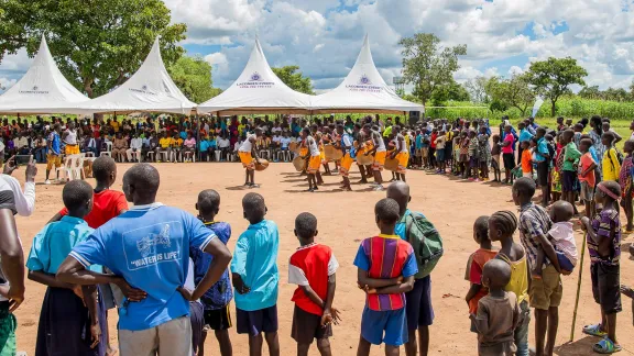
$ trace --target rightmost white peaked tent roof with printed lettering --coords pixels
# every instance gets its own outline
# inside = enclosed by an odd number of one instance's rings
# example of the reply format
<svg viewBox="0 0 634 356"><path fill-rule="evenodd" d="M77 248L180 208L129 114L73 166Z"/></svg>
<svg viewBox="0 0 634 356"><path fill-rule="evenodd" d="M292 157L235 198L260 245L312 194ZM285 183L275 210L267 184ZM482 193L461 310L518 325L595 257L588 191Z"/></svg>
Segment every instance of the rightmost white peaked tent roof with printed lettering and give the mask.
<svg viewBox="0 0 634 356"><path fill-rule="evenodd" d="M354 67L343 82L311 101L314 113L425 111L422 104L401 99L385 84L374 66L368 35L363 40L363 47Z"/></svg>

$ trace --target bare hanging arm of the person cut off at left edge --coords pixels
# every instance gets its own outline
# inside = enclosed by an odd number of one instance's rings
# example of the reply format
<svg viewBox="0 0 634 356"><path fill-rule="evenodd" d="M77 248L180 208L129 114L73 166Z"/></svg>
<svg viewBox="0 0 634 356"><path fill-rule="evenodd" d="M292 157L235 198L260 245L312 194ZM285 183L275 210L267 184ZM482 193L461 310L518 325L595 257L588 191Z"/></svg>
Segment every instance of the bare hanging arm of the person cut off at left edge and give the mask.
<svg viewBox="0 0 634 356"><path fill-rule="evenodd" d="M13 211L7 208L0 208L0 257L2 271L10 285L7 298L13 311L24 300L24 254Z"/></svg>

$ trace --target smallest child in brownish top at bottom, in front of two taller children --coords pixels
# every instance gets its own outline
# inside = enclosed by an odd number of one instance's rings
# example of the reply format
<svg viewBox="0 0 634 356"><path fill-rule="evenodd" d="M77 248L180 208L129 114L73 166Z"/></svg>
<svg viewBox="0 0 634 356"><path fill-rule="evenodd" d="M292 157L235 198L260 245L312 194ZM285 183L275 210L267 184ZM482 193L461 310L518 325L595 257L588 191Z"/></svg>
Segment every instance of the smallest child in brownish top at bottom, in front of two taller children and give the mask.
<svg viewBox="0 0 634 356"><path fill-rule="evenodd" d="M478 330L480 356L511 356L517 351L513 335L520 321L520 307L515 293L504 290L510 281L507 263L494 258L484 265L482 285L489 288L489 294L478 302L478 314L471 314Z"/></svg>

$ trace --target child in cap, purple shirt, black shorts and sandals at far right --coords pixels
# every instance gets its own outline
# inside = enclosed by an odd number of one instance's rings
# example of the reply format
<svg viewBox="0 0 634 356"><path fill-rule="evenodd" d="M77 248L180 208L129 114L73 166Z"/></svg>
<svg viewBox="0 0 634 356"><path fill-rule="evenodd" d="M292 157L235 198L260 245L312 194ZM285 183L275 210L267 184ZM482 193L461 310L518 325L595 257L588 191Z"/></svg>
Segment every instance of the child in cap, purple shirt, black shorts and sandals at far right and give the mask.
<svg viewBox="0 0 634 356"><path fill-rule="evenodd" d="M583 333L604 337L592 349L600 354L612 354L621 351L616 341L616 313L621 312L620 259L621 259L621 220L619 199L621 187L613 180L605 180L597 186L594 200L602 204L592 221L581 218L581 229L587 232L588 252L590 253L590 276L592 294L601 305L601 323L583 326Z"/></svg>

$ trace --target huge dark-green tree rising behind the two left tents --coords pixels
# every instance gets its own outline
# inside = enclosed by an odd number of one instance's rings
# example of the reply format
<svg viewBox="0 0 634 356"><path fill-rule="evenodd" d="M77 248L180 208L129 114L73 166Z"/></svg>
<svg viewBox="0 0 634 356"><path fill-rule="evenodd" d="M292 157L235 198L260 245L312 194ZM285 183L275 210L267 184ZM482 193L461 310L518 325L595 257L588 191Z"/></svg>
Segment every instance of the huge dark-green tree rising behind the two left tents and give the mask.
<svg viewBox="0 0 634 356"><path fill-rule="evenodd" d="M161 0L1 0L0 59L44 34L66 78L90 98L123 84L147 56L157 35L166 66L185 52L185 24L171 23Z"/></svg>

